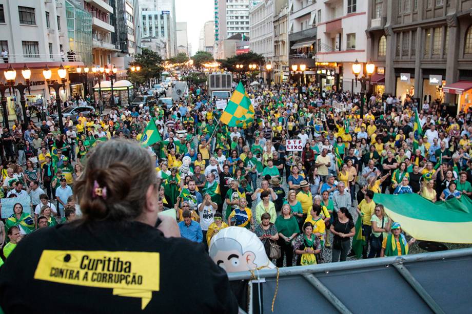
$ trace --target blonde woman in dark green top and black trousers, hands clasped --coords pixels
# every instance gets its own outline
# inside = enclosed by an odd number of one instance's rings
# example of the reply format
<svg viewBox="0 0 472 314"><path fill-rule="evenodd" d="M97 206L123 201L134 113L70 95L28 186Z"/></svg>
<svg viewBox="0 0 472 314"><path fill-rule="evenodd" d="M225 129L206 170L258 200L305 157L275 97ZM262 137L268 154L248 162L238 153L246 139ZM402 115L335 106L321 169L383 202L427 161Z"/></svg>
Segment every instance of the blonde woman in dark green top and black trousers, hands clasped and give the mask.
<svg viewBox="0 0 472 314"><path fill-rule="evenodd" d="M277 267L284 266L284 257L287 259L286 266L293 265L293 248L291 241L299 233L298 221L292 215L291 207L288 203L282 205L282 214L277 217L276 228L279 232L280 258L277 259Z"/></svg>

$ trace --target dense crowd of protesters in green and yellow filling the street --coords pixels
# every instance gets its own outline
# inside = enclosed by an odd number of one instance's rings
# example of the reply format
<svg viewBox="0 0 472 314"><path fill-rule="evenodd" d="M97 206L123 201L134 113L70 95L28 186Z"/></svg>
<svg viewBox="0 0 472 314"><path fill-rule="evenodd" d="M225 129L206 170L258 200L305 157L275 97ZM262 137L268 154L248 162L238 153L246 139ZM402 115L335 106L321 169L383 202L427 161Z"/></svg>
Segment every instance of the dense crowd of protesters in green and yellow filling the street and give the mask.
<svg viewBox="0 0 472 314"><path fill-rule="evenodd" d="M472 195L472 107L450 115L439 101L374 94L361 117L359 95L298 88L246 85L255 110L247 128L221 123L222 110L203 85L190 85L172 108L144 104L101 114L95 107L90 116L65 119L63 132L51 117L39 126L28 121L26 130L15 122L0 141L0 197L26 197L30 206L15 204L0 223L4 256L35 229L79 217L73 185L93 146L140 141L147 123L162 138L148 148L161 179L159 205L175 208L182 237L208 247L222 228L248 228L279 267L345 261L358 215L363 258L407 254L415 239L406 240L375 193L417 193L431 202ZM66 106L89 102L75 100ZM415 111L424 133L417 144ZM287 151L288 139L301 139L303 150Z"/></svg>

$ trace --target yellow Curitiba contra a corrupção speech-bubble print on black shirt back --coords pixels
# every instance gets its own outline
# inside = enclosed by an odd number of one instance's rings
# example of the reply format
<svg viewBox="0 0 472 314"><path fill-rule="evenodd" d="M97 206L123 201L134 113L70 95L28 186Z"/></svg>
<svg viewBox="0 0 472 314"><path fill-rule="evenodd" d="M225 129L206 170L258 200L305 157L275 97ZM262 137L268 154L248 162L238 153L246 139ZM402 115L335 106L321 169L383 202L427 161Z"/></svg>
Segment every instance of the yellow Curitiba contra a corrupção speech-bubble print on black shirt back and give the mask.
<svg viewBox="0 0 472 314"><path fill-rule="evenodd" d="M34 279L111 288L113 295L141 298L141 309L159 291L159 253L44 250Z"/></svg>

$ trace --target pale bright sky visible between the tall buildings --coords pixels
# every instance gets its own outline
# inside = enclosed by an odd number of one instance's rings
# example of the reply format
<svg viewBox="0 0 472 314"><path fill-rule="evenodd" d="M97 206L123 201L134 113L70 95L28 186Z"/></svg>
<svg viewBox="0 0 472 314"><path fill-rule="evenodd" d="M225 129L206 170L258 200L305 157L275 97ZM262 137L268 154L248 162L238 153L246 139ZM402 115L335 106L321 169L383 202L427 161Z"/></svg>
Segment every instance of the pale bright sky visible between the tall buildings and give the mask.
<svg viewBox="0 0 472 314"><path fill-rule="evenodd" d="M177 22L187 22L187 37L191 55L199 49L199 37L205 22L214 19L214 0L175 0Z"/></svg>

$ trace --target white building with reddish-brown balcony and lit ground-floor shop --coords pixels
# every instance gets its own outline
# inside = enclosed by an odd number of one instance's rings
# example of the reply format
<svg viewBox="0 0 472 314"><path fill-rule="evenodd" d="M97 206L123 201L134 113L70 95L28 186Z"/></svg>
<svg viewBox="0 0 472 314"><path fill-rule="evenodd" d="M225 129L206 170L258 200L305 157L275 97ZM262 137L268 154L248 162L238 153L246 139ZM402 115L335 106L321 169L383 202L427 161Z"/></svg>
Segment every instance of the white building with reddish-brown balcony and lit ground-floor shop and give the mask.
<svg viewBox="0 0 472 314"><path fill-rule="evenodd" d="M336 87L354 93L361 91L361 84L356 85L352 64L356 60L368 61L365 33L368 6L368 1L361 0L333 0L318 4L312 18L317 25L316 71L322 89Z"/></svg>

